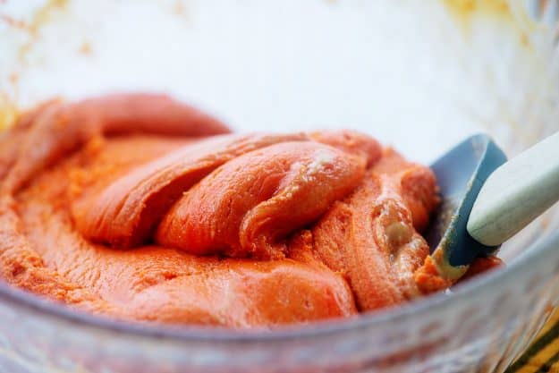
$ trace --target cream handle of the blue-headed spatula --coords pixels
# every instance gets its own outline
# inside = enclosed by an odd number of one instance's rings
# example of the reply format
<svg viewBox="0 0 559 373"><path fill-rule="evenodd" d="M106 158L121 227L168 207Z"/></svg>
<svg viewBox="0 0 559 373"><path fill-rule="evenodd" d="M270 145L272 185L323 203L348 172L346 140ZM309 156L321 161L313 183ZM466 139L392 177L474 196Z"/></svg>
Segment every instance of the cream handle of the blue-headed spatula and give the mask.
<svg viewBox="0 0 559 373"><path fill-rule="evenodd" d="M479 191L468 232L497 246L559 200L559 132L497 168Z"/></svg>

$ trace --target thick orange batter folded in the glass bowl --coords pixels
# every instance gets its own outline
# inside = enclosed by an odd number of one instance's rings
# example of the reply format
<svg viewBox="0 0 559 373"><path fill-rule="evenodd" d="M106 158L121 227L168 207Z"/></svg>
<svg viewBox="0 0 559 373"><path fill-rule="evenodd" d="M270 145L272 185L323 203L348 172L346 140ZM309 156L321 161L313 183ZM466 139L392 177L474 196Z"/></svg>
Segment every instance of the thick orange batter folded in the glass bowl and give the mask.
<svg viewBox="0 0 559 373"><path fill-rule="evenodd" d="M114 318L350 317L439 290L434 174L353 131L231 134L154 95L52 101L0 137L0 273Z"/></svg>

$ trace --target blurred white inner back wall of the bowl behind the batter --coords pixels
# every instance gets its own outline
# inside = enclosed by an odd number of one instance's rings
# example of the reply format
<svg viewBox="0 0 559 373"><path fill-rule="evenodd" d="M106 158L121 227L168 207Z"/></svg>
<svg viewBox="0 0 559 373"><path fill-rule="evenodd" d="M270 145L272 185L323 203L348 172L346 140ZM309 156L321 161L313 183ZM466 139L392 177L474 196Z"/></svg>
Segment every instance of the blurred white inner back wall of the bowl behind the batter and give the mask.
<svg viewBox="0 0 559 373"><path fill-rule="evenodd" d="M30 106L165 91L239 131L351 127L423 162L487 129L514 150L559 110L546 40L517 11L502 0L4 0L0 92Z"/></svg>

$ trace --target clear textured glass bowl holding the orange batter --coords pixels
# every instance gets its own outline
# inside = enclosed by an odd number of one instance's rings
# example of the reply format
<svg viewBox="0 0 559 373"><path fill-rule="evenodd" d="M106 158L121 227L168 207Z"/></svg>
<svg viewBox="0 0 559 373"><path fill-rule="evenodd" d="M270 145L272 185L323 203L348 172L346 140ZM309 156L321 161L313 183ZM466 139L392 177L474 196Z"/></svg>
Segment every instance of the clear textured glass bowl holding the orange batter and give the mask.
<svg viewBox="0 0 559 373"><path fill-rule="evenodd" d="M0 126L53 95L140 89L238 131L355 128L425 163L473 132L513 155L559 128L553 27L527 2L224 3L0 2ZM114 321L0 284L0 371L502 372L559 300L558 226L554 208L452 292L267 332Z"/></svg>

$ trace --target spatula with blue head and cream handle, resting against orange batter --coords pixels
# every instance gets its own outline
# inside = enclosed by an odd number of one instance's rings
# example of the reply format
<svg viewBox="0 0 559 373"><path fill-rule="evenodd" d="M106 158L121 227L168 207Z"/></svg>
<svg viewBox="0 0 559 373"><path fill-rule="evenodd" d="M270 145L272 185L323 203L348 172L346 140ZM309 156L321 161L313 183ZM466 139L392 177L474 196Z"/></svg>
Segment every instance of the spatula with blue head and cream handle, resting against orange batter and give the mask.
<svg viewBox="0 0 559 373"><path fill-rule="evenodd" d="M431 168L442 204L426 237L439 273L455 282L559 200L559 132L508 162L476 135Z"/></svg>

